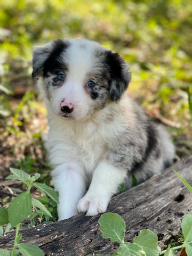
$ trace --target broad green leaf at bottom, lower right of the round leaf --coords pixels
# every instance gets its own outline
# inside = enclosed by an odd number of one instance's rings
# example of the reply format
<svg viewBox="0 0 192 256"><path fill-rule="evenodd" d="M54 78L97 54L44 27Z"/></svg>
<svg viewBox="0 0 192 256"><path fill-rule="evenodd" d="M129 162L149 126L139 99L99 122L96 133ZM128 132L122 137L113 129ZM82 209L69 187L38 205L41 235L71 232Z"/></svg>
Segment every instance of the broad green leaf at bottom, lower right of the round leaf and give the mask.
<svg viewBox="0 0 192 256"><path fill-rule="evenodd" d="M158 238L150 229L142 229L133 241L142 247L146 256L158 256Z"/></svg>

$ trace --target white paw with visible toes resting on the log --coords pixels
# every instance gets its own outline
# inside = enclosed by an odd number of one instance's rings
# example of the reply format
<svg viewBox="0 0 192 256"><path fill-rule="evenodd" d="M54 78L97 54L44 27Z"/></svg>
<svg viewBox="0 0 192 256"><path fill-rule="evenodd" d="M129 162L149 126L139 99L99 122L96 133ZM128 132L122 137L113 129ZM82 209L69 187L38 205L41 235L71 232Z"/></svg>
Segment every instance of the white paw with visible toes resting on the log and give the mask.
<svg viewBox="0 0 192 256"><path fill-rule="evenodd" d="M86 212L86 216L94 216L107 210L108 200L97 198L95 195L85 195L79 200L78 212Z"/></svg>

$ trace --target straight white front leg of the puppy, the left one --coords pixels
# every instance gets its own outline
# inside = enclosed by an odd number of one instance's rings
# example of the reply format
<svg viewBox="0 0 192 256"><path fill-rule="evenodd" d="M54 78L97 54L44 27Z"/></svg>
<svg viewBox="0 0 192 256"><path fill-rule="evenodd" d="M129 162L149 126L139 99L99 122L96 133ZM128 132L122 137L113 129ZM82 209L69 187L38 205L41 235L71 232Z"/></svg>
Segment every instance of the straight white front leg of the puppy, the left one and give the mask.
<svg viewBox="0 0 192 256"><path fill-rule="evenodd" d="M64 163L52 171L52 180L59 193L59 220L77 214L77 204L85 194L86 180L83 167L77 163Z"/></svg>

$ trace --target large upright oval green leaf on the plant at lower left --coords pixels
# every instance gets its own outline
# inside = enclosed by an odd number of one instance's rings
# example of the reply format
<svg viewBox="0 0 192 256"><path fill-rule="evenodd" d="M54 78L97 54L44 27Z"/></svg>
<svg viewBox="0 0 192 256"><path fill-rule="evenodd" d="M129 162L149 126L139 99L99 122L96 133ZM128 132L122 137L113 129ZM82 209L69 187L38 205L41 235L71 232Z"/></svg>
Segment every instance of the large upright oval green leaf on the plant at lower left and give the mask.
<svg viewBox="0 0 192 256"><path fill-rule="evenodd" d="M31 212L31 195L23 192L9 204L8 213L11 226L14 227L25 220Z"/></svg>

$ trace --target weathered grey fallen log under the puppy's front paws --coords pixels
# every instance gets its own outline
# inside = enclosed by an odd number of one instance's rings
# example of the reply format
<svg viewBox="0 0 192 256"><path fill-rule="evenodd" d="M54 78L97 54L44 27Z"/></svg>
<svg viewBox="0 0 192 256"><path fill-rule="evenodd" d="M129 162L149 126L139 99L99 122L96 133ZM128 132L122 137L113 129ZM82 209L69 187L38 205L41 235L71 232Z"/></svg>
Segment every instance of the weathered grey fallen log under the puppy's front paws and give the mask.
<svg viewBox="0 0 192 256"><path fill-rule="evenodd" d="M126 223L125 240L130 242L139 230L150 228L158 235L159 246L181 232L181 220L192 210L192 197L173 170L192 184L192 156L171 166L141 185L115 196L108 212L121 215ZM17 209L15 209L17 211ZM39 246L45 255L84 256L113 253L117 243L103 239L97 217L79 214L68 220L22 230L22 242ZM14 232L0 237L0 248L11 249Z"/></svg>

